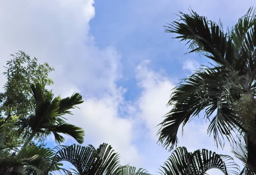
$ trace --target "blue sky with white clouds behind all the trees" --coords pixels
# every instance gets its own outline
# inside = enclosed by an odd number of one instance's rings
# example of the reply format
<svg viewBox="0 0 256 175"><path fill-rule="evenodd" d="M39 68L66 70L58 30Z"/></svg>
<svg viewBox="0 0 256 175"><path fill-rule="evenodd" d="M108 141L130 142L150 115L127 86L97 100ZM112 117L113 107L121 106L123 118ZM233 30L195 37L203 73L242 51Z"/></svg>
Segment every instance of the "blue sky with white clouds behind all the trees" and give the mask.
<svg viewBox="0 0 256 175"><path fill-rule="evenodd" d="M49 89L61 97L83 96L80 110L67 116L84 129L83 145L111 144L122 164L155 175L171 154L156 136L170 110L171 90L208 61L185 55L185 43L163 26L190 6L209 20L221 18L226 28L255 5L254 0L0 0L0 72L19 50L48 62L55 68ZM0 75L1 87L4 82ZM178 146L232 155L229 144L217 150L208 124L202 117L186 124ZM54 145L53 138L48 141ZM67 137L65 144L73 143ZM208 174L222 175L215 169Z"/></svg>

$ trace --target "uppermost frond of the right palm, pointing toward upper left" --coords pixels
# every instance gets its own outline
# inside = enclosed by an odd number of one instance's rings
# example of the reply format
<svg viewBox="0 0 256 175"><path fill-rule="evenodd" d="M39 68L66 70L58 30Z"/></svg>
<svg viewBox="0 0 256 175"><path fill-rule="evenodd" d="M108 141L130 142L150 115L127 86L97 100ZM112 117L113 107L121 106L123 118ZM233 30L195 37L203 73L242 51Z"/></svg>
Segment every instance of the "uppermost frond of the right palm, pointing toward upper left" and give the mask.
<svg viewBox="0 0 256 175"><path fill-rule="evenodd" d="M232 65L233 44L229 33L224 34L221 23L218 25L192 10L190 14L180 12L179 17L179 22L174 21L165 26L166 32L179 34L175 38L181 41L188 40L186 44L191 49L189 53L200 52L226 68Z"/></svg>

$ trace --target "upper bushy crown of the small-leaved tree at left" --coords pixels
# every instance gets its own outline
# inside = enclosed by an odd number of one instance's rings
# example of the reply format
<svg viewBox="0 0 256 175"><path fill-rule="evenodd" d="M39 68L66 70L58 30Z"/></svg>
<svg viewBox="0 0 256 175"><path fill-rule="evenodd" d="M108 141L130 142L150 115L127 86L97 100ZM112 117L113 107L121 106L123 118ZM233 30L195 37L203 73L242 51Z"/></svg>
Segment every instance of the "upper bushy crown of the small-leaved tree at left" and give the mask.
<svg viewBox="0 0 256 175"><path fill-rule="evenodd" d="M35 101L31 94L31 84L39 83L42 88L53 84L48 73L54 69L47 63L38 64L36 58L31 59L22 51L12 56L13 59L7 62L6 72L3 73L7 82L2 93L0 111L6 119L13 115L26 117L33 112Z"/></svg>

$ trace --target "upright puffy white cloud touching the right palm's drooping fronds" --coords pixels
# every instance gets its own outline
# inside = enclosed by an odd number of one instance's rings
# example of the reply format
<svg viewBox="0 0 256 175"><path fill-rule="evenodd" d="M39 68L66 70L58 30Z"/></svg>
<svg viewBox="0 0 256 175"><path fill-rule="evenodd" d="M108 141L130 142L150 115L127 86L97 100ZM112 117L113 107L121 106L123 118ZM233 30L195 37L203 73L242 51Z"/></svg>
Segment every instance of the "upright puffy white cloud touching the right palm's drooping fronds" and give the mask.
<svg viewBox="0 0 256 175"><path fill-rule="evenodd" d="M175 86L164 73L154 72L148 68L148 60L145 60L137 67L138 86L142 89L137 101L140 117L146 122L151 132L151 137L159 127L156 127L168 109L166 107L171 95L171 90Z"/></svg>

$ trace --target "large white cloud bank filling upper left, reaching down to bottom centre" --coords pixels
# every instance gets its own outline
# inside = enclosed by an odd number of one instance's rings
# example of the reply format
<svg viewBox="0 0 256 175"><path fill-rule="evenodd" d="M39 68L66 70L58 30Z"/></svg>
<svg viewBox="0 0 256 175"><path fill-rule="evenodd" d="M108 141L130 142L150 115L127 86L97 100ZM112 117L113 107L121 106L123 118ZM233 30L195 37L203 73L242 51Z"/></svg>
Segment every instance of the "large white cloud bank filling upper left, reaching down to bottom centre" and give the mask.
<svg viewBox="0 0 256 175"><path fill-rule="evenodd" d="M119 116L125 90L115 84L122 77L121 55L112 46L99 49L89 32L93 0L1 1L0 11L0 64L18 50L48 62L55 68L50 88L56 95L76 91L84 97L81 110L67 118L84 128L85 144L98 147L107 142L122 154L123 163L140 164L131 143L133 123ZM0 79L3 85L5 79Z"/></svg>

